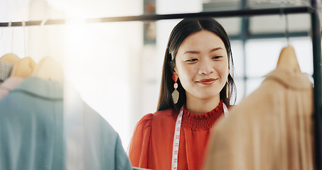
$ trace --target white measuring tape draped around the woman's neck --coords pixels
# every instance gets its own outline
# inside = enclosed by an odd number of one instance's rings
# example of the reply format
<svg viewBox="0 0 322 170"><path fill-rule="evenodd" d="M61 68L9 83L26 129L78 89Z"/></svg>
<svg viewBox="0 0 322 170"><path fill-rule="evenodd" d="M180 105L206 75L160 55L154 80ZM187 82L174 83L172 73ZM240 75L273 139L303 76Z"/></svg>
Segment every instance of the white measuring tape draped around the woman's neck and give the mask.
<svg viewBox="0 0 322 170"><path fill-rule="evenodd" d="M229 112L225 103L223 103L223 108L224 108L224 115L226 117ZM182 119L183 119L183 106L180 108L179 115L176 121L176 128L174 130L171 170L178 169L179 141L180 141L180 130L181 130Z"/></svg>

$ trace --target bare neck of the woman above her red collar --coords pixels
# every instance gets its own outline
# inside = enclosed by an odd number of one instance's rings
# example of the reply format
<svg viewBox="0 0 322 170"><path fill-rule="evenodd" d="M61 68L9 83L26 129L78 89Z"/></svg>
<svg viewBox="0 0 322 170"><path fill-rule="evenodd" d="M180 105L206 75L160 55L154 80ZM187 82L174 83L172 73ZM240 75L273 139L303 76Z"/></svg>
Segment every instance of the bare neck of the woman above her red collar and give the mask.
<svg viewBox="0 0 322 170"><path fill-rule="evenodd" d="M195 96L187 96L187 102L185 106L187 107L188 111L191 113L195 113L197 115L205 114L209 111L214 110L219 105L220 96L214 96L212 98L196 98Z"/></svg>

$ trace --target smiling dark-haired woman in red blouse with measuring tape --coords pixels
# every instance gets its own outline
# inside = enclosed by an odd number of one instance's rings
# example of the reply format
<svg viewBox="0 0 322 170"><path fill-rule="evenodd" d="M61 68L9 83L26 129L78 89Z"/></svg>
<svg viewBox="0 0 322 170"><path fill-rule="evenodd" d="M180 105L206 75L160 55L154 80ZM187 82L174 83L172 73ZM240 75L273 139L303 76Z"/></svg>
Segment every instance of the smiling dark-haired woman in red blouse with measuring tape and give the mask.
<svg viewBox="0 0 322 170"><path fill-rule="evenodd" d="M217 21L180 21L168 40L158 111L144 115L134 130L132 166L201 169L209 130L236 89L233 69L229 38Z"/></svg>

